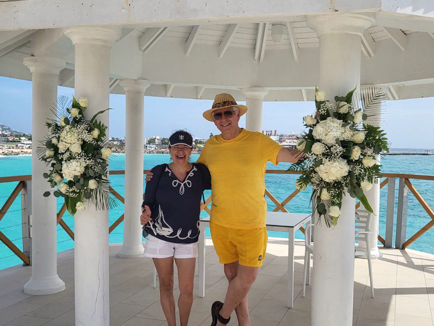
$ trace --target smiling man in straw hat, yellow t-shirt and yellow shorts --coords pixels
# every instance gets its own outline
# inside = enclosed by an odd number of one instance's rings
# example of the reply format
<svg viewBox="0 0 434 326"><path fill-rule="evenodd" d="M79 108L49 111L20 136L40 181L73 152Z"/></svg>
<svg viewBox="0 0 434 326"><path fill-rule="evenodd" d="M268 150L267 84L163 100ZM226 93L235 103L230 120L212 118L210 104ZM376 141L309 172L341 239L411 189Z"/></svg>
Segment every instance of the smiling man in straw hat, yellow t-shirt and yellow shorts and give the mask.
<svg viewBox="0 0 434 326"><path fill-rule="evenodd" d="M297 161L268 136L240 128L238 121L246 112L231 95L219 94L203 113L221 131L206 142L197 162L211 173L211 237L229 280L225 302L212 304L211 326L227 324L234 310L239 325L250 325L247 293L267 244L266 163Z"/></svg>

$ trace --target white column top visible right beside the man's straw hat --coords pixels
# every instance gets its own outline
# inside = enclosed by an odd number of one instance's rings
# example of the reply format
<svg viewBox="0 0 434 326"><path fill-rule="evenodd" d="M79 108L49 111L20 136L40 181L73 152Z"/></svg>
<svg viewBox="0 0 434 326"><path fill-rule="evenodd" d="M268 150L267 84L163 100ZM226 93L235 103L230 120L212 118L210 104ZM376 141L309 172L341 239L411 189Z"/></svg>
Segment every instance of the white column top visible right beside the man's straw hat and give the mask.
<svg viewBox="0 0 434 326"><path fill-rule="evenodd" d="M267 88L249 87L242 88L242 94L246 98L246 129L250 131L262 131L262 102L268 94Z"/></svg>

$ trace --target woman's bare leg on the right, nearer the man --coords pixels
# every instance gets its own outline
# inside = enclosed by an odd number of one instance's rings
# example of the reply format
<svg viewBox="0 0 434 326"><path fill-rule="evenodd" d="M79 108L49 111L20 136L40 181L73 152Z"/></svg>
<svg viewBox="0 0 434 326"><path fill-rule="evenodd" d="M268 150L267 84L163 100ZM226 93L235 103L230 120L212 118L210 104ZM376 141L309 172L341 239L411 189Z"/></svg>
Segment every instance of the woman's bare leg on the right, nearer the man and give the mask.
<svg viewBox="0 0 434 326"><path fill-rule="evenodd" d="M175 263L178 267L179 290L181 291L178 299L179 319L181 326L187 326L191 305L193 304L196 258L175 258Z"/></svg>

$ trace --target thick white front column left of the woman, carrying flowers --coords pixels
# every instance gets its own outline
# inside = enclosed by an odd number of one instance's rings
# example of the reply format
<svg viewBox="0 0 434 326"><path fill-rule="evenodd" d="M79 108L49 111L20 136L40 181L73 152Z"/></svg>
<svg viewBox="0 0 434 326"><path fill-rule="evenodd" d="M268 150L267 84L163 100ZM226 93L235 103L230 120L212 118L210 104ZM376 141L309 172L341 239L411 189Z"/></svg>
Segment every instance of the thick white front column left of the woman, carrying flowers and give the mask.
<svg viewBox="0 0 434 326"><path fill-rule="evenodd" d="M65 30L75 48L75 96L90 102L85 115L108 108L110 47L118 27L73 27ZM108 126L108 111L98 116ZM108 129L106 131L108 136ZM108 325L108 211L93 205L74 218L75 324Z"/></svg>

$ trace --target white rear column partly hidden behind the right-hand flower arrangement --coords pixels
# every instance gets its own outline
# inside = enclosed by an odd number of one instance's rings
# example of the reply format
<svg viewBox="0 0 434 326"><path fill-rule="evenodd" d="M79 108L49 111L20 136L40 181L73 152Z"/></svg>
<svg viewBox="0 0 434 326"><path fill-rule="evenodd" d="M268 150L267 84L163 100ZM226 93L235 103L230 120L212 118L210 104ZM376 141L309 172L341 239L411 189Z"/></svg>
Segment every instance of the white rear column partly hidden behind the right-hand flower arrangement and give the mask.
<svg viewBox="0 0 434 326"><path fill-rule="evenodd" d="M381 109L376 109L375 111L370 111L368 114L368 118L366 119L365 123L371 124L373 126L381 127ZM376 155L375 160L380 164L381 156ZM378 250L378 221L379 221L379 200L380 200L380 188L379 188L380 181L378 180L378 183L374 183L372 185L371 190L368 192L365 192L366 198L368 200L369 205L372 207L373 214L371 217L369 229L371 230L371 233L369 234L368 241L369 241L369 248L371 251L371 257L372 258L382 258L383 254ZM363 205L361 206L363 208ZM366 243L359 242L360 248L366 248ZM366 256L363 256L366 257Z"/></svg>

